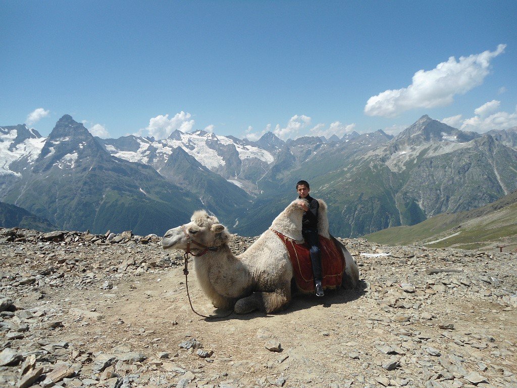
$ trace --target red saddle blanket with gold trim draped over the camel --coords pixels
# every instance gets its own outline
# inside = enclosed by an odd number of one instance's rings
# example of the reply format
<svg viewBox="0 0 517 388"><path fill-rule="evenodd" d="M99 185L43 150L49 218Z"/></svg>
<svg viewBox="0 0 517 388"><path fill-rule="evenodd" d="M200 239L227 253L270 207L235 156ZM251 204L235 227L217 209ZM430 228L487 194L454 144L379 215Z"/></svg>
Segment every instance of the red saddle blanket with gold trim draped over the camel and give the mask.
<svg viewBox="0 0 517 388"><path fill-rule="evenodd" d="M272 230L272 232L282 240L287 252L289 252L298 288L306 292L314 291L314 275L307 245L297 243L296 240L286 237L276 230ZM341 285L343 271L345 270L343 251L330 238L322 235L320 235L320 251L322 257L322 286L323 288L336 288Z"/></svg>

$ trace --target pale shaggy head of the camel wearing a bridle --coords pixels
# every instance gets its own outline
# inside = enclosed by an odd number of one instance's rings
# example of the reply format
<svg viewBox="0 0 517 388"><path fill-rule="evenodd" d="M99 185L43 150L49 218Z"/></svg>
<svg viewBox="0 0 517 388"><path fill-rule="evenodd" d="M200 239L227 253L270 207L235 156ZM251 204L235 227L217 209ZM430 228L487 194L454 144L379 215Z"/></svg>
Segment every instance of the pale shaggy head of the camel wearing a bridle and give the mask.
<svg viewBox="0 0 517 388"><path fill-rule="evenodd" d="M194 212L189 223L174 229L169 229L165 233L162 239L162 247L163 249L187 250L190 239L190 251L195 255L204 248L197 246L192 241L201 243L207 247L220 247L229 242L230 233L219 223L217 217L209 216L204 210L198 210Z"/></svg>

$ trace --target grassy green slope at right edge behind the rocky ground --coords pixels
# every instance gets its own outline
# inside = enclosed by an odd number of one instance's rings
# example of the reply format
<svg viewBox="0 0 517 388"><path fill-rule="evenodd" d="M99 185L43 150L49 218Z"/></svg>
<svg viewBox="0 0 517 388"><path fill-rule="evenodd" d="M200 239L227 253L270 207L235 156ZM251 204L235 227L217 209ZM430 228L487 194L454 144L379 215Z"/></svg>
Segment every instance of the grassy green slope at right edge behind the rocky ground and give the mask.
<svg viewBox="0 0 517 388"><path fill-rule="evenodd" d="M449 237L455 233L459 233ZM433 248L455 246L475 249L517 237L517 191L486 206L455 214L444 213L414 226L388 228L363 236L391 245L423 243ZM445 240L441 240L444 237ZM430 242L437 241L430 244Z"/></svg>

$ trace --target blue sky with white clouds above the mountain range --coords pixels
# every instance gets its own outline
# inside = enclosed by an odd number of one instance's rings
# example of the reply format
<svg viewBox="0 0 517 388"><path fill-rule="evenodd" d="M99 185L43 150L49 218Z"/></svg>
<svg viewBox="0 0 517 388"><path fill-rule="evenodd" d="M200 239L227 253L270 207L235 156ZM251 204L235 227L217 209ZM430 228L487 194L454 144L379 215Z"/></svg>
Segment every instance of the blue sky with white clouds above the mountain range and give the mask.
<svg viewBox="0 0 517 388"><path fill-rule="evenodd" d="M0 125L43 136L63 114L101 137L517 125L514 1L3 1L0 15Z"/></svg>

